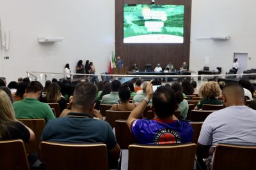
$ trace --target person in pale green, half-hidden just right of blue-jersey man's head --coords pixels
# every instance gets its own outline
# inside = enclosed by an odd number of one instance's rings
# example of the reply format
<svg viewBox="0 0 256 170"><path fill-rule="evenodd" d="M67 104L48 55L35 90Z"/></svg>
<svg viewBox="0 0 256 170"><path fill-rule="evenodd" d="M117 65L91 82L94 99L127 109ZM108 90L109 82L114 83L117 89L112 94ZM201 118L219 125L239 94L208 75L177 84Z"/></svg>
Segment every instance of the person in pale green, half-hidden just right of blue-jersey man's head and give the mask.
<svg viewBox="0 0 256 170"><path fill-rule="evenodd" d="M182 86L179 82L174 82L171 89L176 93L177 103L179 104L180 117L186 118L188 115L188 101L184 99L182 94Z"/></svg>

